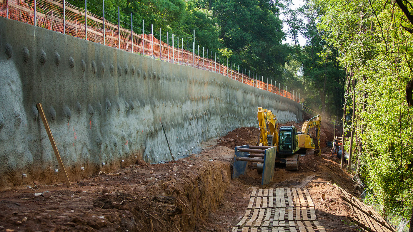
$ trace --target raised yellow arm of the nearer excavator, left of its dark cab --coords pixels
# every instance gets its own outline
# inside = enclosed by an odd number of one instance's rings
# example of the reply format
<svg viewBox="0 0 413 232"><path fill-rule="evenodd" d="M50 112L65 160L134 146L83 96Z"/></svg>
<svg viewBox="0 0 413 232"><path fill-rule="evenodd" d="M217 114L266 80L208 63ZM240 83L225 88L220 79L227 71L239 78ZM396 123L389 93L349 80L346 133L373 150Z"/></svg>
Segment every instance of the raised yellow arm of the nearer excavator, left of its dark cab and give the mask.
<svg viewBox="0 0 413 232"><path fill-rule="evenodd" d="M258 108L259 143L262 146L278 146L278 122L271 110Z"/></svg>

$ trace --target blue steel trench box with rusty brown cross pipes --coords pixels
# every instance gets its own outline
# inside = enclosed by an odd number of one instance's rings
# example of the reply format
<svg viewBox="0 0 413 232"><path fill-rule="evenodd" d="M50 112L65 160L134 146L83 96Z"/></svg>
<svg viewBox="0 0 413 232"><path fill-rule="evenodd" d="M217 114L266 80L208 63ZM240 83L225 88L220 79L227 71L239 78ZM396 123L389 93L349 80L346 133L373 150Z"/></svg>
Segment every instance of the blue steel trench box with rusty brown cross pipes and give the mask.
<svg viewBox="0 0 413 232"><path fill-rule="evenodd" d="M247 162L250 161L263 163L261 185L273 181L276 147L242 145L234 150L233 179L247 174Z"/></svg>

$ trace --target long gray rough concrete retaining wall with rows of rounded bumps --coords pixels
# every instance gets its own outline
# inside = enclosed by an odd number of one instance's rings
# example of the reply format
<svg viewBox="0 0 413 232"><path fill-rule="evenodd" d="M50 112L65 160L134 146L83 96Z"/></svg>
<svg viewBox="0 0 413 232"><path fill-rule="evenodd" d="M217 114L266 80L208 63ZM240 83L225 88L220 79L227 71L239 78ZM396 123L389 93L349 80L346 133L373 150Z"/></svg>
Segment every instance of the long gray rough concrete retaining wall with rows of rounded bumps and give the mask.
<svg viewBox="0 0 413 232"><path fill-rule="evenodd" d="M280 121L302 119L298 103L223 75L2 17L0 46L0 187L61 178L38 102L72 178L135 156L171 160L160 118L176 156L256 126L258 106Z"/></svg>

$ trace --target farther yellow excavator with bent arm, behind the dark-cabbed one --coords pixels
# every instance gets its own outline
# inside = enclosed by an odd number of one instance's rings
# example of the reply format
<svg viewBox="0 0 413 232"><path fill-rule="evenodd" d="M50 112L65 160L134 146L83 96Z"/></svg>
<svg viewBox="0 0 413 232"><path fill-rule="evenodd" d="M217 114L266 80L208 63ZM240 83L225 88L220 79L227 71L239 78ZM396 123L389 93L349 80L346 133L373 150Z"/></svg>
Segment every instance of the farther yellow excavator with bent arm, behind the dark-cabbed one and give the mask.
<svg viewBox="0 0 413 232"><path fill-rule="evenodd" d="M315 127L315 130L311 130ZM320 156L320 129L321 129L321 116L316 115L309 120L306 120L302 127L301 132L298 132L298 141L300 146L299 153L304 151L307 154L310 149L315 149L314 154Z"/></svg>

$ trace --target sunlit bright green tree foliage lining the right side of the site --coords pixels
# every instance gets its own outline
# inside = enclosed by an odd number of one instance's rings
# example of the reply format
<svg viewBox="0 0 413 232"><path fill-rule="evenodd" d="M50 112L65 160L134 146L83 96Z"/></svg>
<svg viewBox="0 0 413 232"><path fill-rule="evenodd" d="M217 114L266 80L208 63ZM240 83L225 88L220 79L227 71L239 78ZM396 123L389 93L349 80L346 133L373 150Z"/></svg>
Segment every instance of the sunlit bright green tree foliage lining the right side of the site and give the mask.
<svg viewBox="0 0 413 232"><path fill-rule="evenodd" d="M318 28L356 82L356 142L347 150L357 151L370 198L410 218L413 170L405 165L413 160L413 111L405 87L413 76L413 37L405 28L413 25L397 5L381 0L315 2L324 11Z"/></svg>

